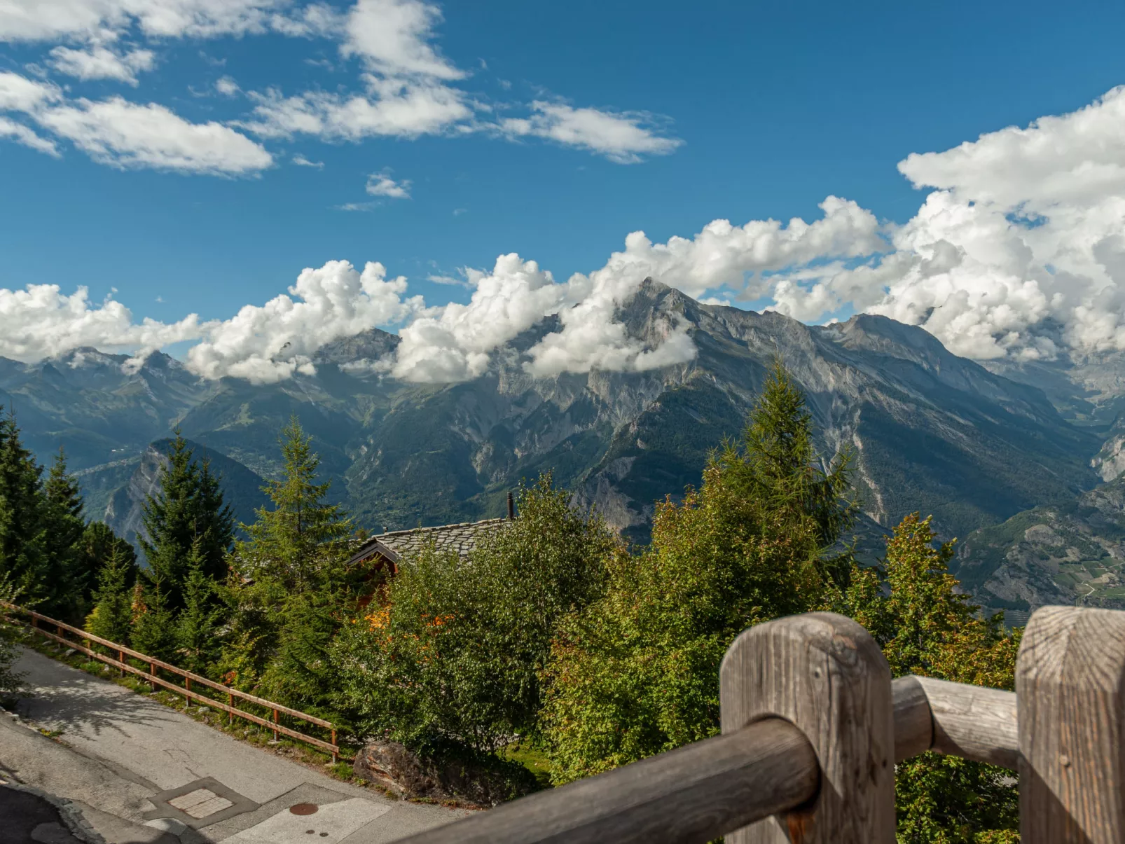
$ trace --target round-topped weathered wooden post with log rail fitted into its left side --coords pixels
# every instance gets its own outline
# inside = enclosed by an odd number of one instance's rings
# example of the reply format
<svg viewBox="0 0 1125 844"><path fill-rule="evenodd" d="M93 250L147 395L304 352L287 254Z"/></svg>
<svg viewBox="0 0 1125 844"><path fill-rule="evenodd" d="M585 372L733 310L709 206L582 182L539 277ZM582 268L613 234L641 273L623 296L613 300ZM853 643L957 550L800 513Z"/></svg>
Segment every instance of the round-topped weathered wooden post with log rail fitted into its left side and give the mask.
<svg viewBox="0 0 1125 844"><path fill-rule="evenodd" d="M891 672L860 625L831 612L744 631L720 671L722 731L776 716L804 733L820 790L801 809L727 835L731 844L893 844Z"/></svg>

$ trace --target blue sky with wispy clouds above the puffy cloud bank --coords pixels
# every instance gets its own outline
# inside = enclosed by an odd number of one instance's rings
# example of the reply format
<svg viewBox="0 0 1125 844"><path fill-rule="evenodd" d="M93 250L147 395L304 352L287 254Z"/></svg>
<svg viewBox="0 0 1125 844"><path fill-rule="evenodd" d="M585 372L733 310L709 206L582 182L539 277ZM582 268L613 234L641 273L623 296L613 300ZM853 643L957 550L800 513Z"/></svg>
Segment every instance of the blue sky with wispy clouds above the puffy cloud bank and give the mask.
<svg viewBox="0 0 1125 844"><path fill-rule="evenodd" d="M0 288L82 285L93 302L115 288L134 323L227 320L303 268L380 261L434 306L472 289L428 277L464 280L503 253L561 282L601 268L629 232L663 243L717 218L811 223L830 195L903 225L928 187L969 190L912 183L897 169L910 153L1073 113L1125 82L1120 3L369 7L360 20L352 2L7 5L0 72L40 93L0 111ZM404 15L423 23L394 35ZM326 128L325 102L378 106L388 86L464 114L362 137L339 117ZM286 123L285 98L303 95L316 132ZM93 107L118 97L118 111ZM271 102L269 119L255 114ZM137 113L150 104L163 122ZM153 152L145 132L174 120L227 134L214 150L188 133L174 155ZM857 307L845 299L825 313Z"/></svg>

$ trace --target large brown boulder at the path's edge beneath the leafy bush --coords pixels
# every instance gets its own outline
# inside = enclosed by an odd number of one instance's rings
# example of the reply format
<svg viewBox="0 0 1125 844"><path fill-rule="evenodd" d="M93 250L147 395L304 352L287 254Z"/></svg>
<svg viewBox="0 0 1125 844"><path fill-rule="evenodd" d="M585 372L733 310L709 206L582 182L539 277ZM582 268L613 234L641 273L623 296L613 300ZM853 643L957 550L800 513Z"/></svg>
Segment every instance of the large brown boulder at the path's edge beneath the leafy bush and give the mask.
<svg viewBox="0 0 1125 844"><path fill-rule="evenodd" d="M495 806L536 790L523 765L467 753L420 756L398 742L371 742L356 754L358 776L406 799Z"/></svg>

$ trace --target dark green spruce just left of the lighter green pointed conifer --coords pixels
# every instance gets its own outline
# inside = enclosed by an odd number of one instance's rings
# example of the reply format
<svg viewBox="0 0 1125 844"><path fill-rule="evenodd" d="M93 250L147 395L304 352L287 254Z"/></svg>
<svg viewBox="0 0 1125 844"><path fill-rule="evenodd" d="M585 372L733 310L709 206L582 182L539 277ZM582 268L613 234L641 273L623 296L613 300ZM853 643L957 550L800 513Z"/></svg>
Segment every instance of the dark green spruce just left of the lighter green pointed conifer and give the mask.
<svg viewBox="0 0 1125 844"><path fill-rule="evenodd" d="M226 555L234 539L234 515L223 501L219 479L210 465L195 460L187 440L176 431L168 465L160 473L160 488L145 501L143 535L138 537L151 572L162 582L168 604L183 607L188 558L196 539L205 574L213 580L226 575Z"/></svg>

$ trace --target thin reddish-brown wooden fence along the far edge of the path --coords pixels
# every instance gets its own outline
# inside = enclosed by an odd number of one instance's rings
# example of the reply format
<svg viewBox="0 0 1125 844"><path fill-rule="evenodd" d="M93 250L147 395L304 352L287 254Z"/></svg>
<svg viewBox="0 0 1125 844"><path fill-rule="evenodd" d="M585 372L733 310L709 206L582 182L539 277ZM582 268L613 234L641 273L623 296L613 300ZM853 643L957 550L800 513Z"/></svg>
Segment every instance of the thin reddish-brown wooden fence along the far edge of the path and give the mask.
<svg viewBox="0 0 1125 844"><path fill-rule="evenodd" d="M109 639L102 639L100 636L94 636L93 634L89 634L80 627L72 627L71 625L57 621L56 619L53 618L48 618L47 616L35 612L34 610L28 610L22 607L17 607L16 604L8 603L6 601L0 601L0 607L3 607L10 612L16 612L21 616L26 616L28 619L28 621L25 622L26 626L32 628L35 632L39 634L40 636L44 636L53 641L57 641L61 645L72 647L75 650L80 650L87 656L92 656L94 659L98 659L99 662L102 662L106 665L111 665L118 671L120 671L123 675L127 672L144 677L145 681L152 685L153 691L156 690L156 686L160 686L162 689L168 689L169 691L183 695L184 700L195 700L205 706L214 707L215 709L226 712L228 722L233 721L234 718L242 718L243 720L260 725L262 727L267 727L268 729L272 730L273 740L277 740L279 734L284 736L289 736L290 738L295 738L298 742L304 742L305 744L312 745L313 747L318 747L323 751L327 751L328 753L332 754L333 762L340 761L340 746L336 744L336 729L333 726L332 721L326 721L323 718L317 718L314 715L308 715L307 712L302 712L297 709L290 709L289 707L276 703L271 700L266 700L264 698L259 698L254 694L250 694L249 692L244 692L238 689L224 685L222 683L216 683L214 680L208 680L207 677L200 676L199 674L194 674L190 671L184 671L183 668L179 668L170 663L165 663L163 659L158 659L153 656L148 656L147 654L142 654L140 650L127 648L124 645L119 645L116 641L110 641ZM54 627L55 632L50 632L48 630L44 629L40 622ZM87 641L88 644L92 643L109 648L110 650L116 650L117 658L114 659L110 656L106 656L105 654L94 650L88 645L82 645L78 641L74 641L73 639L68 639L65 636L65 634L68 632L73 634L74 636ZM132 659L136 659L138 662L144 663L147 666L147 671L143 668L137 668L135 665L130 665L129 663L126 662L125 657L129 657ZM174 674L177 676L183 677L183 685L182 686L178 685L177 683L169 682L168 680L164 680L163 677L159 676L156 674L158 668L160 671L165 671L169 674ZM198 692L192 691L191 690L192 683L195 683L197 686L213 689L217 692L225 694L227 697L227 702L222 703L215 700L214 698L207 697L205 694L199 694ZM266 718L261 718L256 715L246 712L242 709L236 709L234 707L235 698L237 698L238 700L244 700L248 703L253 703L255 706L270 710L273 715L273 720L270 721ZM316 738L315 736L309 736L304 733L299 733L295 729L291 729L289 727L286 727L285 725L278 722L279 715L287 715L290 716L291 718L307 721L308 724L315 724L317 727L323 727L330 731L332 740L325 742L323 739Z"/></svg>

